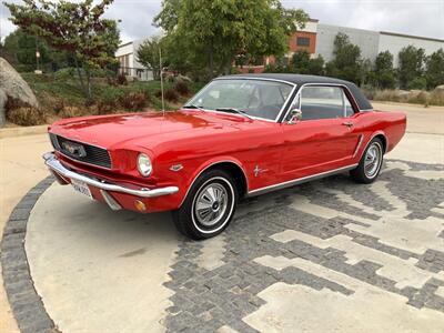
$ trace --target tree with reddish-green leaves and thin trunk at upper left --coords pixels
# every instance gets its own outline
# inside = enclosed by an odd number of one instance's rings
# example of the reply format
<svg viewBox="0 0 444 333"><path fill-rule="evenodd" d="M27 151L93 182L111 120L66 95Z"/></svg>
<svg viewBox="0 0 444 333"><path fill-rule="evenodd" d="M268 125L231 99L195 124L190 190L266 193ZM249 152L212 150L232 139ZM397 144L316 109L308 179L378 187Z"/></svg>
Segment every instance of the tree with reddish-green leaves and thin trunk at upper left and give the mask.
<svg viewBox="0 0 444 333"><path fill-rule="evenodd" d="M16 26L73 57L80 85L91 99L91 71L117 62L117 22L102 18L112 1L101 0L93 4L93 0L23 0L23 4L4 4L9 8L11 21Z"/></svg>

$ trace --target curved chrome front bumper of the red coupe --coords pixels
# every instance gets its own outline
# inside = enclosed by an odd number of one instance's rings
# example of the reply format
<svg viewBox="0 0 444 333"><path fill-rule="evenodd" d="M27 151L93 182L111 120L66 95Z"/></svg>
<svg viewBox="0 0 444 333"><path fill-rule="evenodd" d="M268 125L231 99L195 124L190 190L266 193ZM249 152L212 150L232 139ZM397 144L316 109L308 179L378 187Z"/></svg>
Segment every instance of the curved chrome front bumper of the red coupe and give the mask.
<svg viewBox="0 0 444 333"><path fill-rule="evenodd" d="M139 190L137 189L130 189L112 183L107 183L104 181L83 175L80 173L77 173L74 171L71 171L62 165L60 161L57 159L57 157L52 152L48 152L43 154L43 160L44 164L52 171L59 174L62 178L68 178L68 179L73 179L80 182L84 182L91 186L98 188L103 191L112 191L112 192L121 192L121 193L127 193L140 198L155 198L155 196L161 196L161 195L168 195L168 194L174 194L179 191L178 186L167 186L167 188L159 188L159 189L145 189L141 188Z"/></svg>

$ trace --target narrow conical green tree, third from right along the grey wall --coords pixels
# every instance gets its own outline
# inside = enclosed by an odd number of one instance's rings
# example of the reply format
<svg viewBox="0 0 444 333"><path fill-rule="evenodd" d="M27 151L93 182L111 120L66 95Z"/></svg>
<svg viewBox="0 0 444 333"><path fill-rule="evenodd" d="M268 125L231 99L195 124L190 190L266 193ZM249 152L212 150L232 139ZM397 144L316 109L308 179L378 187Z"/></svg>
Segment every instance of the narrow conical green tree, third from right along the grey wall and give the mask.
<svg viewBox="0 0 444 333"><path fill-rule="evenodd" d="M396 71L393 69L393 54L390 51L380 52L374 68L370 72L372 85L380 89L393 89L396 85Z"/></svg>

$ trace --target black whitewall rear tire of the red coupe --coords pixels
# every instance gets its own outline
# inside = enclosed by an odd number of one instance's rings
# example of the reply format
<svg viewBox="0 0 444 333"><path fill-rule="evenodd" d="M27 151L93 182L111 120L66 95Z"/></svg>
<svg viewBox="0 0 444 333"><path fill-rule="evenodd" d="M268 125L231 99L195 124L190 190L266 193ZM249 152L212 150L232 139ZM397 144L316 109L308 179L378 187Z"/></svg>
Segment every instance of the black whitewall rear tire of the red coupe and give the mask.
<svg viewBox="0 0 444 333"><path fill-rule="evenodd" d="M365 167L365 161L367 159L367 161L370 161L369 159L370 153L369 151L372 150L377 152L377 161L375 163L377 163L376 165L374 165L374 170L373 169L366 169ZM357 182L357 183L362 183L362 184L370 184L373 183L377 175L381 172L381 167L382 167L382 162L384 159L384 145L381 141L381 139L379 138L374 138L367 145L367 148L365 149L364 153L362 154L360 164L357 165L356 169L353 169L352 171L350 171L350 175L351 178ZM369 172L372 171L372 172Z"/></svg>

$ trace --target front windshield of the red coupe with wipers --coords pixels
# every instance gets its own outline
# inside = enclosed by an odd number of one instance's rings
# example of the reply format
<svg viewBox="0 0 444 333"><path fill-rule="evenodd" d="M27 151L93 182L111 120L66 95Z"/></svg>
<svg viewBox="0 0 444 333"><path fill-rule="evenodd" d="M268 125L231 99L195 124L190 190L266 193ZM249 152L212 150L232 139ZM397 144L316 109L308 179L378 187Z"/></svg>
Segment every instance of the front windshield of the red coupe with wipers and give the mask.
<svg viewBox="0 0 444 333"><path fill-rule="evenodd" d="M185 108L236 111L250 117L276 120L292 89L292 84L276 81L214 80L192 98Z"/></svg>

